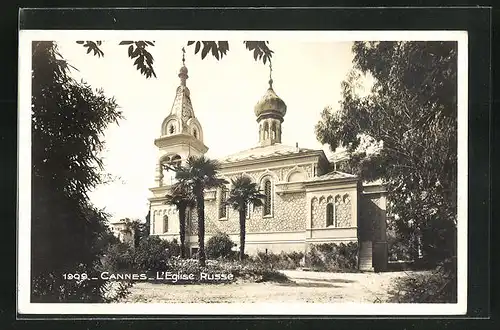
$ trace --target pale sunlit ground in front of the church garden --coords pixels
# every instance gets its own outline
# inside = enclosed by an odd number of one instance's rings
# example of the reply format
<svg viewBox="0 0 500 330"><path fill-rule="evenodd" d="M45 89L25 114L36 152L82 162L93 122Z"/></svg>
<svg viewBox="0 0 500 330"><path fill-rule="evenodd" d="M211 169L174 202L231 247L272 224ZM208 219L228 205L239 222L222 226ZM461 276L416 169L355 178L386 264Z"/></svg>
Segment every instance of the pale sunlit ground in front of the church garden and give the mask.
<svg viewBox="0 0 500 330"><path fill-rule="evenodd" d="M326 273L284 270L290 283L218 285L137 283L122 302L141 303L376 303L385 302L396 278L415 272Z"/></svg>

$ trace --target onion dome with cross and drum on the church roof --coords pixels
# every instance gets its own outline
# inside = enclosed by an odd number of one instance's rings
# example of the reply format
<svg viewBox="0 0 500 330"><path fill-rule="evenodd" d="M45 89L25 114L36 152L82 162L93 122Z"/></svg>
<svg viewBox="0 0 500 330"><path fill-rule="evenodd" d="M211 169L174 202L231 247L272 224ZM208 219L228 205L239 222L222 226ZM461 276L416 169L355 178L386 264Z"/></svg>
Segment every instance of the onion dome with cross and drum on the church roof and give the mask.
<svg viewBox="0 0 500 330"><path fill-rule="evenodd" d="M285 102L273 90L272 71L271 62L269 62L269 88L254 108L259 124L261 147L281 143L281 124L286 114Z"/></svg>

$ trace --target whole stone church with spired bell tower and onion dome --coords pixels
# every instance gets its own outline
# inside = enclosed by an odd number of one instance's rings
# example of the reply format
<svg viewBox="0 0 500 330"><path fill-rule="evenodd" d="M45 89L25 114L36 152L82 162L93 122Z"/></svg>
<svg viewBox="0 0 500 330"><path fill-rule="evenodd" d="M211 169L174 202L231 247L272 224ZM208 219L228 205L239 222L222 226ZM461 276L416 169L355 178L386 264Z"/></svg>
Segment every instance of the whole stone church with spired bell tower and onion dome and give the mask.
<svg viewBox="0 0 500 330"><path fill-rule="evenodd" d="M188 70L183 65L170 114L155 140L158 147L155 187L151 188L151 234L171 240L179 238L178 214L165 204L174 173L163 164L183 163L189 156L203 155L203 128L196 119L186 86ZM273 89L273 81L255 105L259 143L254 148L218 159L220 176L228 182L245 175L265 194L264 205L249 205L246 219L248 254L302 251L312 244L357 242L359 268L383 270L387 264L386 194L383 186L366 184L355 175L333 170L323 150L282 143L286 104ZM221 141L223 143L223 141ZM230 186L205 192L205 235L229 234L239 242L237 211L224 207ZM186 243L198 248L197 217L188 212Z"/></svg>

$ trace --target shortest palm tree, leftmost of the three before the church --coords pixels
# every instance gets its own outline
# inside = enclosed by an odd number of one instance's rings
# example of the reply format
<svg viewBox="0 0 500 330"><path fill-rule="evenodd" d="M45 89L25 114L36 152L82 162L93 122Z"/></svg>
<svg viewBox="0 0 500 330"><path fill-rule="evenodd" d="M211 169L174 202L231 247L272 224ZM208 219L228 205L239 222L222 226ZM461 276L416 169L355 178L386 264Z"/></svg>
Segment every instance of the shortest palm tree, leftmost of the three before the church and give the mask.
<svg viewBox="0 0 500 330"><path fill-rule="evenodd" d="M186 252L186 211L196 205L195 197L189 186L183 182L176 182L170 188L170 194L165 196L165 204L175 205L179 211L179 237L181 241L181 258Z"/></svg>

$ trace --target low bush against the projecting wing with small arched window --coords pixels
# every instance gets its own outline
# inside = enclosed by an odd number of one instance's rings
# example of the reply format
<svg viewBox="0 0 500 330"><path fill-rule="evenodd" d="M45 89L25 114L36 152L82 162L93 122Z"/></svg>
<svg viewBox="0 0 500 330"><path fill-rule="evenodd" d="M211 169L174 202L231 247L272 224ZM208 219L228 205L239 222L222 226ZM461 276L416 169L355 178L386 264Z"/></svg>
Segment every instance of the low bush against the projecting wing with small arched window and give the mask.
<svg viewBox="0 0 500 330"><path fill-rule="evenodd" d="M358 244L327 243L311 245L306 254L306 265L316 270L356 271L358 269Z"/></svg>

